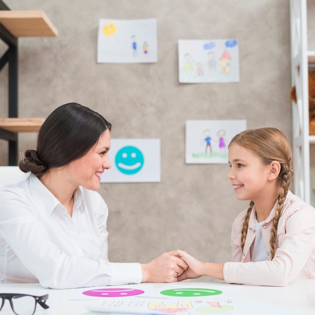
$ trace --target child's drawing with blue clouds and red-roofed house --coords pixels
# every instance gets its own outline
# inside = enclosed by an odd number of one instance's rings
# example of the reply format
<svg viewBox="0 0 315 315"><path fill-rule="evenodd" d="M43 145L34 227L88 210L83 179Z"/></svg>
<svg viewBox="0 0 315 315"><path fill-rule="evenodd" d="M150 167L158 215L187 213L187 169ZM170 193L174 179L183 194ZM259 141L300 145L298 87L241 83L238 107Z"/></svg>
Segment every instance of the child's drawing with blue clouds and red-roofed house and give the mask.
<svg viewBox="0 0 315 315"><path fill-rule="evenodd" d="M179 40L180 83L239 82L237 39Z"/></svg>

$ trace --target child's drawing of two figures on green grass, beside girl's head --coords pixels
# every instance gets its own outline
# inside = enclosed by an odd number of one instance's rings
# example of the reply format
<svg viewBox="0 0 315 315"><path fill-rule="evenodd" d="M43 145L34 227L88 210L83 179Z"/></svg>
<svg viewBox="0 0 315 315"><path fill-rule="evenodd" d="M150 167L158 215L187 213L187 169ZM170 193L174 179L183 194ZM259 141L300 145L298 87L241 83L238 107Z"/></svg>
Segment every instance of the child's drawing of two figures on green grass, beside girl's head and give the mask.
<svg viewBox="0 0 315 315"><path fill-rule="evenodd" d="M227 164L228 143L246 130L246 120L187 120L186 163Z"/></svg>

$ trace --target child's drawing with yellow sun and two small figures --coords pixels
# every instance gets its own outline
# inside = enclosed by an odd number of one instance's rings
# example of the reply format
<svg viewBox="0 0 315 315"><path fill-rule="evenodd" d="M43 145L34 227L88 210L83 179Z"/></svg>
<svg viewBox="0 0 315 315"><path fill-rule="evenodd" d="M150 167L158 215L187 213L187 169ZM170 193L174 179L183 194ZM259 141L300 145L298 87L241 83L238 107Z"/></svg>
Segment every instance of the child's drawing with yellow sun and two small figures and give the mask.
<svg viewBox="0 0 315 315"><path fill-rule="evenodd" d="M100 19L97 62L157 62L156 19Z"/></svg>

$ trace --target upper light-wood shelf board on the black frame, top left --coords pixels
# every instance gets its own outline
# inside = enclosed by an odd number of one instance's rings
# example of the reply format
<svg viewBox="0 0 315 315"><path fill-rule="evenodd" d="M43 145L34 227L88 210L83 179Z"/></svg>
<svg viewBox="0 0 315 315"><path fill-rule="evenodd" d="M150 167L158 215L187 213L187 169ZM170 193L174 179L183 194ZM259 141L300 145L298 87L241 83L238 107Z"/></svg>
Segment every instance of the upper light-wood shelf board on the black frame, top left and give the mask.
<svg viewBox="0 0 315 315"><path fill-rule="evenodd" d="M58 30L43 11L0 10L0 23L15 37L58 36Z"/></svg>

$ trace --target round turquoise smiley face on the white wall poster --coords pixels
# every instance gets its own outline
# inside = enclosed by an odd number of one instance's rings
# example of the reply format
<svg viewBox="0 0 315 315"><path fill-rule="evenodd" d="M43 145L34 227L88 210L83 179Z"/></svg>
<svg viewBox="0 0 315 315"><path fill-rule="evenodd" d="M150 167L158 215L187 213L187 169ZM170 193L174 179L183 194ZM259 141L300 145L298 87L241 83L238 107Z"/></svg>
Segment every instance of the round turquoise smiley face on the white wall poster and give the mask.
<svg viewBox="0 0 315 315"><path fill-rule="evenodd" d="M143 166L142 152L135 146L124 146L116 154L115 164L117 169L126 175L139 172Z"/></svg>

